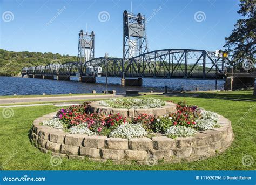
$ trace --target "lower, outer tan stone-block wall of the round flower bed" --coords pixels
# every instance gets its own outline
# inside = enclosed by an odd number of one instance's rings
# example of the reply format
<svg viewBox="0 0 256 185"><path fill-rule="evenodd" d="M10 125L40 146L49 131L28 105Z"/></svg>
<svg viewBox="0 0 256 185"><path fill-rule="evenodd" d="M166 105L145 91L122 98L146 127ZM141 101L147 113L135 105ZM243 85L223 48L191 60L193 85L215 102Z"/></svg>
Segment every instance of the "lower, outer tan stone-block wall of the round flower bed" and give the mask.
<svg viewBox="0 0 256 185"><path fill-rule="evenodd" d="M233 131L231 122L219 117L220 128L198 132L193 137L170 139L165 136L150 138L107 138L68 134L49 126L39 125L56 113L44 115L33 122L31 142L47 153L69 159L112 160L115 163L146 163L150 157L166 162L194 161L206 159L223 152L231 145Z"/></svg>

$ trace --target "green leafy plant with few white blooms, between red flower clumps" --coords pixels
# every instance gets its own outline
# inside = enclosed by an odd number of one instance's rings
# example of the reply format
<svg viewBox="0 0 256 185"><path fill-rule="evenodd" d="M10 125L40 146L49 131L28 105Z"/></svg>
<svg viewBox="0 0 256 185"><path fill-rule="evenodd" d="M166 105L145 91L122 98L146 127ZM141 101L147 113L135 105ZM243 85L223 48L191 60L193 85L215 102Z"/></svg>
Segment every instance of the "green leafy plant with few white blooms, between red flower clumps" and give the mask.
<svg viewBox="0 0 256 185"><path fill-rule="evenodd" d="M172 117L158 117L153 123L155 132L164 133L170 126L172 126Z"/></svg>

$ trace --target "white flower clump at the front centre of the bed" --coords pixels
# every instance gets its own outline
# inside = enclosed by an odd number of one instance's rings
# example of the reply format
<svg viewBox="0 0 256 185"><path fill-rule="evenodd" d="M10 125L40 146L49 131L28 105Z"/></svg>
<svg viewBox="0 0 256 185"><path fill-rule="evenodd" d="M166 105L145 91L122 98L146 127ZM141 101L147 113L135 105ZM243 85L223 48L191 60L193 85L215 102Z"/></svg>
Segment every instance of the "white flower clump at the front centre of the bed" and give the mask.
<svg viewBox="0 0 256 185"><path fill-rule="evenodd" d="M126 138L126 139L140 138L146 135L147 135L147 132L143 128L142 124L129 124L129 123L120 125L119 127L117 127L117 129L115 129L109 134L109 136L113 138Z"/></svg>

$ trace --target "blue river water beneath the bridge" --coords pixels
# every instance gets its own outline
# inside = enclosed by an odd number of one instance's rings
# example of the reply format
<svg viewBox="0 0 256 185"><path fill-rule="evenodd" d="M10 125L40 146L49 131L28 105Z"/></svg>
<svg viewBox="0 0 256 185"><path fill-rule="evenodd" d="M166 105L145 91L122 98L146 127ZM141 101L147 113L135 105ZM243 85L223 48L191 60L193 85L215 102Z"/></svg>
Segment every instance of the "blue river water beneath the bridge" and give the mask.
<svg viewBox="0 0 256 185"><path fill-rule="evenodd" d="M169 90L186 91L215 89L215 80L182 80L182 79L143 79L142 87L122 87L120 78L109 78L108 90L125 93L125 90L138 90L140 92L163 92L165 85ZM26 94L68 94L68 93L97 93L105 90L105 77L97 77L97 83L81 83L77 81L58 81L36 78L0 77L0 95L26 95ZM217 81L218 89L223 88L224 81Z"/></svg>

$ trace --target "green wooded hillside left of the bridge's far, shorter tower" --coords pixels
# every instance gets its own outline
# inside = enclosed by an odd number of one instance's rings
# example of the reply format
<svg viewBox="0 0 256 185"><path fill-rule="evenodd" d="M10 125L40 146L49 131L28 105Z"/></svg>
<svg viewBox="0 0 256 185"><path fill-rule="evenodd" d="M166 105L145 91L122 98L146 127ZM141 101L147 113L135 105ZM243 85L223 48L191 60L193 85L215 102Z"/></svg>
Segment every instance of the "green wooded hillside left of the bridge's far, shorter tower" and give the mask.
<svg viewBox="0 0 256 185"><path fill-rule="evenodd" d="M65 63L66 61L77 61L77 57L51 52L15 52L0 49L0 76L19 76L23 67Z"/></svg>

